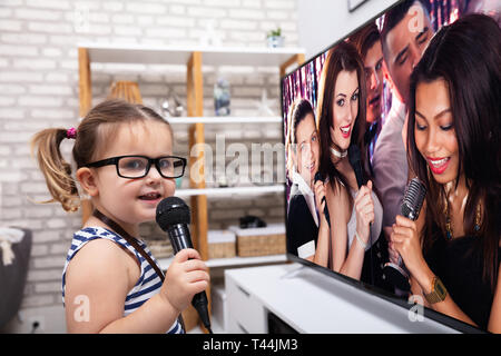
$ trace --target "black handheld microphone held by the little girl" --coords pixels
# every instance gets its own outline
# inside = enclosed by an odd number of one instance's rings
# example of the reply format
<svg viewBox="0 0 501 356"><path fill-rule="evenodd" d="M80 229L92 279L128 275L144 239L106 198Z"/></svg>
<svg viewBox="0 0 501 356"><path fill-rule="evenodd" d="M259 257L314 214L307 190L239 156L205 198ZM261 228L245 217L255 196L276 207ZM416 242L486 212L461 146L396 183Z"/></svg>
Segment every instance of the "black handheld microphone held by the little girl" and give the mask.
<svg viewBox="0 0 501 356"><path fill-rule="evenodd" d="M188 229L190 219L189 207L178 197L165 198L157 206L157 224L169 235L175 255L181 249L193 248ZM207 304L205 291L197 293L191 299L191 305L197 309L202 323L213 334Z"/></svg>

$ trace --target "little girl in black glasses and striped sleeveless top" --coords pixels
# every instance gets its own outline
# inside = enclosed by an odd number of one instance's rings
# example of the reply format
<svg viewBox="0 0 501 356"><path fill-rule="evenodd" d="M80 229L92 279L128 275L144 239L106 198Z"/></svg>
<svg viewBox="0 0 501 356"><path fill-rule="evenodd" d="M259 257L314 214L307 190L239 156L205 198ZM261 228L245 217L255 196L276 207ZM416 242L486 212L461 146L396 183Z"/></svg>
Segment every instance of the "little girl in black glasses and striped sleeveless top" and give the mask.
<svg viewBox="0 0 501 356"><path fill-rule="evenodd" d="M108 100L77 130L38 132L31 147L38 148L50 201L76 211L80 198L59 150L63 139L75 139L76 179L96 209L75 233L62 273L68 332L183 333L177 318L207 288L206 265L196 250L184 249L163 283L151 253L135 238L140 222L155 220L158 202L174 195L175 178L185 170L186 160L171 156L169 123L147 107Z"/></svg>

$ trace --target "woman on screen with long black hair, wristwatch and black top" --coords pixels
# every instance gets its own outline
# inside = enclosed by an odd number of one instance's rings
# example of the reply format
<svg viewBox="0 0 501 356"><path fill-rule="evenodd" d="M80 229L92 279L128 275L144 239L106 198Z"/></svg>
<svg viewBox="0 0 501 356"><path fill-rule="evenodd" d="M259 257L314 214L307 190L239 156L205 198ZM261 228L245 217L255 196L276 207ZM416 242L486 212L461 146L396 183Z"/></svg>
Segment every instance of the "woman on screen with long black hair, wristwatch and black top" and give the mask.
<svg viewBox="0 0 501 356"><path fill-rule="evenodd" d="M396 217L391 244L426 306L501 332L501 30L466 16L431 40L411 78L412 170L420 218ZM426 204L428 202L428 204Z"/></svg>

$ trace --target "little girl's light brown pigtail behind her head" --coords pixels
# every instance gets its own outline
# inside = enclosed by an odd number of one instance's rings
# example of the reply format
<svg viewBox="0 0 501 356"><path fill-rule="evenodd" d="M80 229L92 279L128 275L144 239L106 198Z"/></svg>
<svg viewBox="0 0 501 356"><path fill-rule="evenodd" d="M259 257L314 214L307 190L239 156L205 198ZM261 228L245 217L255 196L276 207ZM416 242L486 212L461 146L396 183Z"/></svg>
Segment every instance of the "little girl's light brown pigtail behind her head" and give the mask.
<svg viewBox="0 0 501 356"><path fill-rule="evenodd" d="M37 152L38 165L53 198L40 202L59 201L66 211L77 211L80 206L80 197L71 177L71 165L65 161L59 148L65 138L68 138L66 129L45 129L31 139L31 152L33 156Z"/></svg>

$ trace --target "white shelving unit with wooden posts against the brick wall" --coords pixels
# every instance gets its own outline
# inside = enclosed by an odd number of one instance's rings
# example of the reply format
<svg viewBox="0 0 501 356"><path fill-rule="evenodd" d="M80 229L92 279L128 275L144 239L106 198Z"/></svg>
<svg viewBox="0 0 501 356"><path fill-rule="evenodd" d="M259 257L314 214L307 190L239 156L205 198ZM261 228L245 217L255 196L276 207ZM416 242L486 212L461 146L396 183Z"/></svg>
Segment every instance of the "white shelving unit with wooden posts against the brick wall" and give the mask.
<svg viewBox="0 0 501 356"><path fill-rule="evenodd" d="M80 117L91 108L91 63L138 63L138 65L177 65L186 66L187 86L187 118L168 118L170 123L188 126L189 151L194 145L205 142L204 125L217 123L267 123L282 121L281 117L204 117L204 83L203 66L232 66L232 67L276 67L281 77L291 66L304 62L304 50L299 48L252 48L252 47L184 47L184 46L144 46L117 43L80 43L78 46L79 61L79 100ZM204 161L204 151L191 155L188 159L188 169L196 161ZM199 174L204 177L204 167ZM195 181L190 178L189 189L179 189L176 195L189 197L191 207L191 236L194 247L199 251L202 259L208 259L207 244L207 197L223 197L236 194L271 194L284 191L283 185L207 188L204 180ZM91 214L89 201L82 204L82 219ZM285 260L285 256L278 257ZM239 264L267 263L274 257L239 259L225 261L207 260L209 267L235 266ZM209 295L209 291L208 291Z"/></svg>

